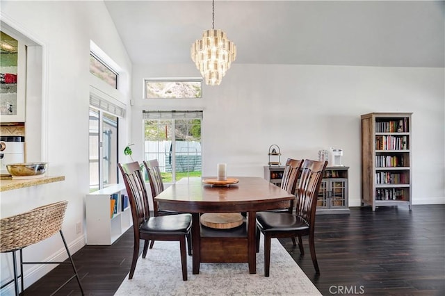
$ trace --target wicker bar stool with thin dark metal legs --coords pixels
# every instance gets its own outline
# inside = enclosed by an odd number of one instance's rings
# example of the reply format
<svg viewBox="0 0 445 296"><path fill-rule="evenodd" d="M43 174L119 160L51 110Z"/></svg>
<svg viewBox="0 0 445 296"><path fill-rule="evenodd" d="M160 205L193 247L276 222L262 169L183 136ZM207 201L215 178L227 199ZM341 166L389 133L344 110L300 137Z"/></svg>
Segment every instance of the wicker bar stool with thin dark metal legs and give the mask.
<svg viewBox="0 0 445 296"><path fill-rule="evenodd" d="M67 208L67 201L56 202L54 204L47 204L46 206L40 206L34 208L33 210L14 215L11 217L5 217L0 220L0 252L12 252L13 253L13 269L14 269L14 279L11 279L7 283L4 283L1 288L8 286L10 283L15 283L15 295L19 295L19 278L22 278L22 293L24 292L24 277L23 277L23 265L24 264L71 264L74 270L74 275L70 277L62 286L60 286L53 294L58 292L63 286L70 282L74 277L79 283L79 288L81 289L82 295L83 288L81 286L81 281L79 279L79 274L77 273L74 262L68 249L67 242L63 237L62 233L62 223L63 217L65 216L65 211ZM22 250L24 247L33 245L36 242L45 240L51 236L54 236L57 232L63 240L63 245L67 251L70 262L24 262L22 258ZM16 253L19 251L20 260L20 274L17 274L17 261Z"/></svg>

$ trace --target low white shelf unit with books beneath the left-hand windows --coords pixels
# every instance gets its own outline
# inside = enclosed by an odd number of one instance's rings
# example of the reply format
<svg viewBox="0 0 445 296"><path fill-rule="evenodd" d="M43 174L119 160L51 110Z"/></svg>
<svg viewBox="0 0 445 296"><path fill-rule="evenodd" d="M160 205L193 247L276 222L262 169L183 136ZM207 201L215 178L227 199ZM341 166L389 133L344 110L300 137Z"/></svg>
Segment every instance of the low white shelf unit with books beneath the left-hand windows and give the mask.
<svg viewBox="0 0 445 296"><path fill-rule="evenodd" d="M111 197L118 195L116 213L111 214ZM124 184L114 184L86 195L87 245L111 245L133 224L130 207L122 210ZM114 212L114 211L113 211Z"/></svg>

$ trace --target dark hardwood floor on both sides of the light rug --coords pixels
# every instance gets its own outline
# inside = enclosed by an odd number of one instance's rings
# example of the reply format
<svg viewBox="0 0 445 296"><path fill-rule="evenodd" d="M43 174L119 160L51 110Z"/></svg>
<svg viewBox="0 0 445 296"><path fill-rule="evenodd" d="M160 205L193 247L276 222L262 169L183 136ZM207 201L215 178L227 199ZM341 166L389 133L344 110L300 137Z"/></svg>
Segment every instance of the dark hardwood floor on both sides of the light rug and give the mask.
<svg viewBox="0 0 445 296"><path fill-rule="evenodd" d="M302 257L291 240L281 240L323 295L445 295L445 205L350 210L316 217L318 277L307 238ZM132 243L129 229L111 246L85 246L73 255L86 295L115 293L129 272ZM71 271L59 265L25 295L49 295ZM76 281L58 295L80 295Z"/></svg>

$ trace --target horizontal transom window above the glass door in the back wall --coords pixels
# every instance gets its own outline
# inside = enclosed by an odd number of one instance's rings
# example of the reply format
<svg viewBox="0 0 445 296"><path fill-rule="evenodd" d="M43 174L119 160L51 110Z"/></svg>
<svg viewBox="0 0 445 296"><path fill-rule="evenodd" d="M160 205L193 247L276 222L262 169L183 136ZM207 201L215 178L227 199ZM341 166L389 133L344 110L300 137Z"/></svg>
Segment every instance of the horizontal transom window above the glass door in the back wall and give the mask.
<svg viewBox="0 0 445 296"><path fill-rule="evenodd" d="M202 79L145 79L145 99L186 99L202 97Z"/></svg>

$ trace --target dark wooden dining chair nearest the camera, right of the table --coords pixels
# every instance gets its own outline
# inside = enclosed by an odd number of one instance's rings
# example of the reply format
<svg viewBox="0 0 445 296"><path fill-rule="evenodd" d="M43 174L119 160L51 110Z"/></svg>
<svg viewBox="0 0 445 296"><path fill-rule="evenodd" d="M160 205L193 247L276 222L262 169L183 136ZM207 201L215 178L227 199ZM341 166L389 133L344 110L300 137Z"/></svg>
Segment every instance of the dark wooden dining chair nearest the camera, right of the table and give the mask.
<svg viewBox="0 0 445 296"><path fill-rule="evenodd" d="M318 190L327 161L305 159L301 166L300 181L296 188L295 213L257 213L257 251L260 232L264 235L264 276L269 276L271 238L296 238L300 253L305 254L302 236L309 236L309 249L316 274L320 274L315 254L314 223Z"/></svg>

